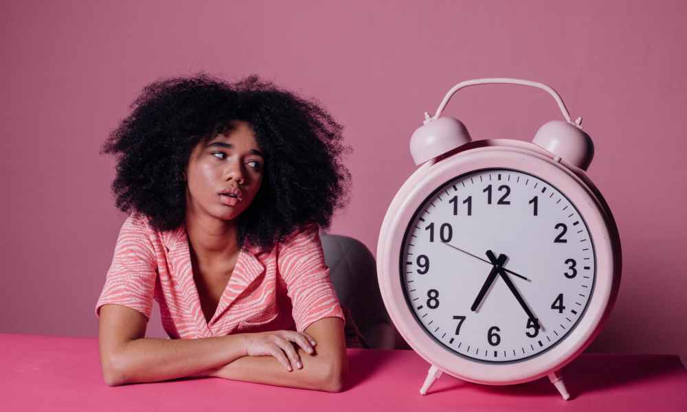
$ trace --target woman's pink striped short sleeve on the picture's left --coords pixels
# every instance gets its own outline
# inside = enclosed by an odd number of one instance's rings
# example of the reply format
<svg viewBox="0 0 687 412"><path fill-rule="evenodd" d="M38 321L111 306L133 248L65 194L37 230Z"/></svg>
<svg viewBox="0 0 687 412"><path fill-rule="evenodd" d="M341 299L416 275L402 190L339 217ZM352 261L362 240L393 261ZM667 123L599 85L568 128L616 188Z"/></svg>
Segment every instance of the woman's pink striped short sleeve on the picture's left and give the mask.
<svg viewBox="0 0 687 412"><path fill-rule="evenodd" d="M112 264L98 303L95 304L95 317L100 318L102 305L118 304L137 310L150 319L157 263L149 233L147 223L136 219L134 215L130 215L122 224Z"/></svg>

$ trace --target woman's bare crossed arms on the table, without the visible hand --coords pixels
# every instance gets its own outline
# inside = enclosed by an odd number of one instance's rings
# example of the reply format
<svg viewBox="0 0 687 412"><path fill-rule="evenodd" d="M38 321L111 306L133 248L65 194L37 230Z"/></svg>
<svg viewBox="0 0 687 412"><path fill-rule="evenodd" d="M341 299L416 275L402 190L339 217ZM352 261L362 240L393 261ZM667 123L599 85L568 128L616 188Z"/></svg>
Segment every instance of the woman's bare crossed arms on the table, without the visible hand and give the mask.
<svg viewBox="0 0 687 412"><path fill-rule="evenodd" d="M293 371L273 356L247 356L247 334L170 341L145 338L146 323L143 314L126 306L102 307L99 344L107 385L214 376L341 391L348 372L343 321L337 317L319 319L306 328L317 344L312 354L295 348L303 367Z"/></svg>

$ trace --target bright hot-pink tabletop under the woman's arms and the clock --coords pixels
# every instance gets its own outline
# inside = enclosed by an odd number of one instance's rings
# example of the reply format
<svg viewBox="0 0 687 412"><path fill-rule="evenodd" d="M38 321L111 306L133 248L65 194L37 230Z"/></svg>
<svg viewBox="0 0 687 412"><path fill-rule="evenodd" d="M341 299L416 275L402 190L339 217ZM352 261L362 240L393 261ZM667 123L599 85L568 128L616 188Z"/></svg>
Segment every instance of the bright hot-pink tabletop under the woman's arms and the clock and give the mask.
<svg viewBox="0 0 687 412"><path fill-rule="evenodd" d="M348 350L346 390L326 393L182 378L108 387L95 338L0 334L4 411L686 411L687 373L677 356L583 354L564 369L572 399L540 379L511 387L444 374L427 396L429 365L409 350Z"/></svg>

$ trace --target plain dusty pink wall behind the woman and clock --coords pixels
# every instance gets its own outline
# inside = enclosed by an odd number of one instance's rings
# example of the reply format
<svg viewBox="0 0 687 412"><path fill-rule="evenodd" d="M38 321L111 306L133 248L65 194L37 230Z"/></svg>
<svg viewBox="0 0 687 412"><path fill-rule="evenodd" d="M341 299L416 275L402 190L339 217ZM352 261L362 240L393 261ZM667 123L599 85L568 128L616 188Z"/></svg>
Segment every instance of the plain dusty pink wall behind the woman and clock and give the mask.
<svg viewBox="0 0 687 412"><path fill-rule="evenodd" d="M151 80L255 72L317 98L354 148L353 198L333 232L374 251L423 112L461 80L515 77L554 87L595 139L589 175L618 221L624 273L592 350L687 358L684 2L242 3L0 5L0 332L97 334L125 218L98 149ZM475 138L531 139L561 118L549 95L515 86L466 89L446 113ZM159 317L149 330L161 336Z"/></svg>

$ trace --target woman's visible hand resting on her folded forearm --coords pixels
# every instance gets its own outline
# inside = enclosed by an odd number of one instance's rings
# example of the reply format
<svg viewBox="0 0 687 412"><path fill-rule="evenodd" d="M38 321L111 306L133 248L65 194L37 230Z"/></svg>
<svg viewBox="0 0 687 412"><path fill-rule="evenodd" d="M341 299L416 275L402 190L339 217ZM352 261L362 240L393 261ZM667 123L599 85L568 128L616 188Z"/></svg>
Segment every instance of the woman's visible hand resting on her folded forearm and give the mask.
<svg viewBox="0 0 687 412"><path fill-rule="evenodd" d="M248 356L274 356L288 371L293 371L291 365L298 369L303 367L293 343L302 347L308 354L313 354L313 346L317 345L313 336L295 330L245 333L243 336Z"/></svg>

